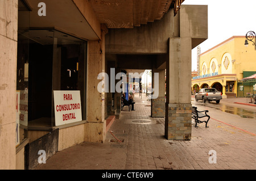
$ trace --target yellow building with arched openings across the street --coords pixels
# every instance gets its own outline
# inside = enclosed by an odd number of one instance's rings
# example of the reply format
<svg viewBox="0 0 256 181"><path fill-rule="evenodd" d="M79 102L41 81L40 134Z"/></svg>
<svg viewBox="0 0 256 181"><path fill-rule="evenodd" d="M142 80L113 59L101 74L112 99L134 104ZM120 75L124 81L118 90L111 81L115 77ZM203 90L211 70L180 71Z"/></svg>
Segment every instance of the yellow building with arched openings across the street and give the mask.
<svg viewBox="0 0 256 181"><path fill-rule="evenodd" d="M222 92L223 98L245 96L245 90L255 93L250 88L253 85L245 89L239 83L242 78L256 73L256 50L250 41L249 46L245 47L245 39L245 36L232 36L201 53L199 76L192 78L192 90L196 87L213 87Z"/></svg>

